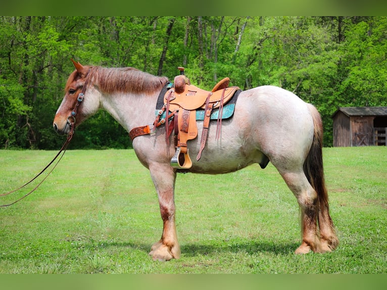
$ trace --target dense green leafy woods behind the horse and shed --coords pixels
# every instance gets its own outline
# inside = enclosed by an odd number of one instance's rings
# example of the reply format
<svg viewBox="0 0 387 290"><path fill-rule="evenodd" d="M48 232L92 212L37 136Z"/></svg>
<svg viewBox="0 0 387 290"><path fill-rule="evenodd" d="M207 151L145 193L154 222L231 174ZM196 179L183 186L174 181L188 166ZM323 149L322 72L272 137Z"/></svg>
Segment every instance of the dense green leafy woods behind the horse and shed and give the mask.
<svg viewBox="0 0 387 290"><path fill-rule="evenodd" d="M339 106L387 106L387 17L0 17L0 148L58 149L52 129L70 58L170 79L177 66L210 89L223 77L272 84L314 104L332 145ZM99 112L72 148L128 148Z"/></svg>

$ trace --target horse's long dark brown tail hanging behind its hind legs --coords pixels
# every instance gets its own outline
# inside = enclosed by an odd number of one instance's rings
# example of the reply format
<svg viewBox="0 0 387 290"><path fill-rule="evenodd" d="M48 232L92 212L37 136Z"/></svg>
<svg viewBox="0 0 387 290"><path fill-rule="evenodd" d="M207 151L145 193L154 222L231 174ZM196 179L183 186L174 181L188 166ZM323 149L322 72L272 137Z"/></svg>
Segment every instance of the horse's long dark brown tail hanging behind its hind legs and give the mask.
<svg viewBox="0 0 387 290"><path fill-rule="evenodd" d="M317 192L320 212L329 213L328 192L325 187L324 167L322 163L322 119L320 113L313 105L307 105L313 117L314 137L312 147L304 163L304 173L313 189Z"/></svg>

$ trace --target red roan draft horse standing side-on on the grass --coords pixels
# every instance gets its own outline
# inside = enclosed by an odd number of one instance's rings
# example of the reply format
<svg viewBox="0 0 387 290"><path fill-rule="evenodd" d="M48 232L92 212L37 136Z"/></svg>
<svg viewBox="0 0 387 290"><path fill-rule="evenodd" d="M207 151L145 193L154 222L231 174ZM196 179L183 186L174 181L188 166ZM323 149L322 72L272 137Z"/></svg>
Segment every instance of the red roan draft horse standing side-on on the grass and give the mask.
<svg viewBox="0 0 387 290"><path fill-rule="evenodd" d="M155 105L167 77L131 67L83 66L72 61L75 70L68 77L53 123L58 134L71 133L99 109L106 110L128 132L154 122ZM197 122L201 135L203 121ZM220 138L215 138L216 131L216 126L209 127L201 159L194 158L186 172L220 174L254 163L265 168L271 162L299 205L302 240L295 254L325 253L337 248L324 180L322 119L313 105L283 88L258 86L239 93L233 116L222 122ZM170 164L175 146L166 139L165 130L158 128L154 134L132 140L133 150L139 162L149 169L157 191L163 231L149 255L160 261L181 255L174 202L179 169ZM187 144L193 156L200 150L198 139Z"/></svg>

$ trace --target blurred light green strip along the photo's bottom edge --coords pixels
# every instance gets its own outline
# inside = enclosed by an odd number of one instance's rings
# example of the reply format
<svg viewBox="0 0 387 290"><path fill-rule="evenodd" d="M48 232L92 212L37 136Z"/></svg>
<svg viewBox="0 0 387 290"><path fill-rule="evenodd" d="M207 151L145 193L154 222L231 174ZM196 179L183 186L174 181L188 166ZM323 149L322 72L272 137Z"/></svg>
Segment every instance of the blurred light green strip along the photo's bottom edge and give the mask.
<svg viewBox="0 0 387 290"><path fill-rule="evenodd" d="M119 274L74 274L74 275L1 275L3 289L55 289L55 290L194 290L194 289L372 289L385 288L385 275L351 274L300 274L300 275L238 275L238 274L193 274L193 275L119 275Z"/></svg>

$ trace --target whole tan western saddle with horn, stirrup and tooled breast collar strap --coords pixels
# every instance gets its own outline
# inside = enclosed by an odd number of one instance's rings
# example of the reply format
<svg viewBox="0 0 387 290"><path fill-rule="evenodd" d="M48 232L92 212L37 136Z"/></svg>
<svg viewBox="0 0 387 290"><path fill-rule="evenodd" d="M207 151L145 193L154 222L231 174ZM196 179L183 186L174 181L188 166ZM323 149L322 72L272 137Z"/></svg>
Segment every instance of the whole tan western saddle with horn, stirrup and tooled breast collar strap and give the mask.
<svg viewBox="0 0 387 290"><path fill-rule="evenodd" d="M165 126L166 141L169 143L169 136L174 131L176 147L171 166L189 169L192 161L188 155L187 141L198 136L197 111L204 110L201 145L196 158L199 161L206 145L210 119L214 119L211 118L212 113L218 109L216 138L219 138L223 106L232 99L239 87L229 86L230 79L226 77L219 81L211 91L207 91L191 85L189 79L184 75L184 68L179 67L178 69L180 75L174 78L173 87L171 86L166 91L164 89L160 93L158 104L162 104L162 107L156 108L157 117L153 123L153 129L151 130L150 125L137 127L129 132L129 136L133 140L136 136L154 133L156 127L167 123ZM162 103L160 98L163 100Z"/></svg>

